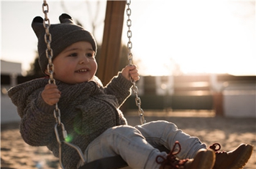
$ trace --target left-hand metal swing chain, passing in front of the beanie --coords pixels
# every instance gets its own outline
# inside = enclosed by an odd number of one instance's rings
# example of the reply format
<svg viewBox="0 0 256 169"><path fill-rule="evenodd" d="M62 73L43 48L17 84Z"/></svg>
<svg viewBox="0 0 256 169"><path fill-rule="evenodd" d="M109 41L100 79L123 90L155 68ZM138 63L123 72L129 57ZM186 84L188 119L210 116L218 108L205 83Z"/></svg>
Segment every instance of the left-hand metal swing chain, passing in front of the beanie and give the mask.
<svg viewBox="0 0 256 169"><path fill-rule="evenodd" d="M48 59L47 72L50 74L49 84L56 84L55 79L53 78L53 74L54 74L54 64L52 63L53 52L52 52L52 48L50 47L50 43L52 42L52 35L50 34L50 31L49 31L49 29L50 29L50 19L47 16L47 14L49 12L49 5L47 4L46 0L44 0L43 4L42 4L42 12L45 14L45 19L43 20L42 24L45 28L45 44L47 45L45 55ZM76 151L78 152L81 160L83 160L83 163L85 163L86 160L85 160L85 157L84 157L81 149L78 148L78 146L73 145L73 144L68 143L68 142L65 141L65 139L68 138L68 133L65 130L65 125L60 120L60 109L58 108L58 103L55 104L55 110L53 111L53 115L54 115L55 120L56 120L55 135L56 135L56 139L57 139L58 144L59 144L60 167L64 168L63 160L62 160L62 147L61 147L63 143L65 143L66 145L76 149ZM61 129L62 129L63 139L64 139L63 141L60 140L60 135L58 134L58 126L60 126Z"/></svg>

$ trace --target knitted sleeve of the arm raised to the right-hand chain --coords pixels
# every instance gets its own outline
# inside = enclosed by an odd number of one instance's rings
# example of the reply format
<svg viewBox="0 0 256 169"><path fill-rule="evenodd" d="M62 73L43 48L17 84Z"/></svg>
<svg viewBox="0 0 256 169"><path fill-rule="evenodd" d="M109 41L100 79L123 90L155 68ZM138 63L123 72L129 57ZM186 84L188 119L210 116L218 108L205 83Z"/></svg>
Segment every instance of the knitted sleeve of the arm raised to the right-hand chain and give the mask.
<svg viewBox="0 0 256 169"><path fill-rule="evenodd" d="M114 95L119 103L119 107L127 100L127 97L131 95L132 82L125 79L121 72L111 79L109 84L106 85L104 91L108 95Z"/></svg>

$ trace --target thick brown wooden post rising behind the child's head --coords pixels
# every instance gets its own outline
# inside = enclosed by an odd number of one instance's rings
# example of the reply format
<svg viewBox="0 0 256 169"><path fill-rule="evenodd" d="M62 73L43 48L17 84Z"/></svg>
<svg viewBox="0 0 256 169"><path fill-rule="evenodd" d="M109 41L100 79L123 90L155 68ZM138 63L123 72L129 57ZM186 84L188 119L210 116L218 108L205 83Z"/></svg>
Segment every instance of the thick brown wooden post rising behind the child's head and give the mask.
<svg viewBox="0 0 256 169"><path fill-rule="evenodd" d="M104 36L97 76L106 85L119 68L126 1L107 1Z"/></svg>

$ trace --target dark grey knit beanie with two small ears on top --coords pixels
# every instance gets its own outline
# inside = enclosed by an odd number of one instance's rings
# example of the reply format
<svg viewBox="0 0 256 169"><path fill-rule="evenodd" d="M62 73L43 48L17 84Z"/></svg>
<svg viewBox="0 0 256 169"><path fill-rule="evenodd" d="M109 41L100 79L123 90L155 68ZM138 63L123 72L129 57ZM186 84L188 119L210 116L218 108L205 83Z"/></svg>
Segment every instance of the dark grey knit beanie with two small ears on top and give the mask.
<svg viewBox="0 0 256 169"><path fill-rule="evenodd" d="M89 42L93 47L93 51L97 52L97 44L93 35L86 31L83 27L73 23L72 18L68 14L62 14L59 17L60 24L50 24L49 32L52 36L52 42L50 47L52 48L53 56L52 61L55 57L60 54L66 47L76 42ZM32 29L37 35L39 64L43 73L47 69L48 59L45 55L47 46L45 44L45 28L42 24L43 19L40 16L36 16L32 21Z"/></svg>

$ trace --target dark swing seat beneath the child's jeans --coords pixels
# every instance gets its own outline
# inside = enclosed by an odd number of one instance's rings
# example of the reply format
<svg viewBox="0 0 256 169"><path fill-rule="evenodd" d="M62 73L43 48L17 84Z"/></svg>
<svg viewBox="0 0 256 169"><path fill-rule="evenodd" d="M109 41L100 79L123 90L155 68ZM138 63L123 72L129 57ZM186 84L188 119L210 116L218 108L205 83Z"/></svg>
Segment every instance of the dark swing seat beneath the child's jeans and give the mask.
<svg viewBox="0 0 256 169"><path fill-rule="evenodd" d="M165 151L166 153L170 153L170 150L165 148L164 146L161 146L157 148L160 150L160 152ZM99 160L94 160L90 163L86 163L85 165L81 166L78 169L115 169L115 168L125 168L127 167L127 163L124 161L124 159L120 155L116 155L109 158L101 158Z"/></svg>

